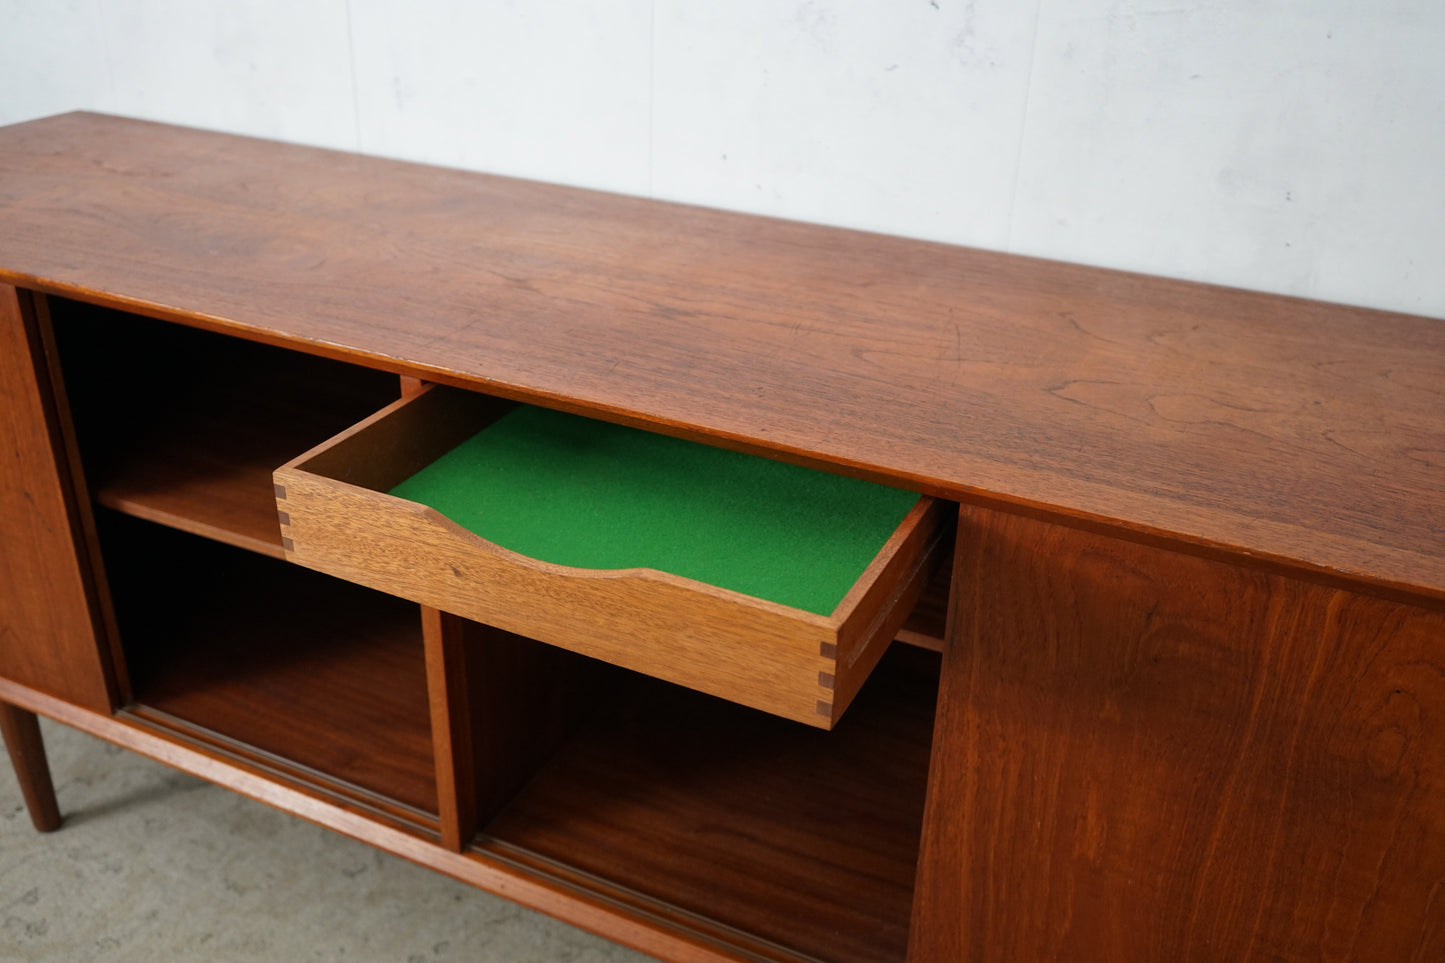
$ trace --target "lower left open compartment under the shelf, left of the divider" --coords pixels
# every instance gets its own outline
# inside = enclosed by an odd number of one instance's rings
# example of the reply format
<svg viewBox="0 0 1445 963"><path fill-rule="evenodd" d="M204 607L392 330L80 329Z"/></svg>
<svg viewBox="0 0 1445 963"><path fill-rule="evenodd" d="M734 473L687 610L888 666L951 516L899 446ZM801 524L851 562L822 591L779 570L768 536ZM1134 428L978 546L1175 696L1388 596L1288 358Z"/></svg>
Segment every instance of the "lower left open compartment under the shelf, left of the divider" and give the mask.
<svg viewBox="0 0 1445 963"><path fill-rule="evenodd" d="M233 755L288 761L292 778L324 789L435 816L416 606L134 519L100 521L134 714L186 723Z"/></svg>

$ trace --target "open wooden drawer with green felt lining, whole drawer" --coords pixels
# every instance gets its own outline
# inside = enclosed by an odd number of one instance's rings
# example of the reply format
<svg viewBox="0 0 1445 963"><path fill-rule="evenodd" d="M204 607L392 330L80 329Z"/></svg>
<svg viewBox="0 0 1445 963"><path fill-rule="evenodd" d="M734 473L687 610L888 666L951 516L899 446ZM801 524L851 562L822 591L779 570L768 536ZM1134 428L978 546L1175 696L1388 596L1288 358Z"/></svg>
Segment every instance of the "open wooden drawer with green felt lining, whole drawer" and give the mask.
<svg viewBox="0 0 1445 963"><path fill-rule="evenodd" d="M561 441L553 437L558 432ZM467 515L468 499L506 489L509 480L494 479L493 470L501 476L533 470L540 444L535 438L543 435L552 448L543 445L548 454L540 457L539 476L581 473L591 455L604 466L605 477L561 479L558 484L574 484L581 499L571 505L540 477L535 484L530 476L523 477L520 487L512 477L512 502L496 495L500 505L477 509L478 518L530 518L535 526L549 529L538 535L540 542L526 541L533 536L526 525L520 535L512 532L496 542L468 531L491 531ZM499 441L488 441L493 438ZM477 447L484 442L493 447ZM577 455L579 466L556 466L558 445L566 457ZM655 451L659 447L660 454ZM634 450L637 458L660 461L629 476L627 466L618 468L618 463ZM467 457L473 468L467 468ZM614 477L614 470L621 474ZM733 474L743 479L736 482L746 489L740 497L724 490L734 484L727 480ZM779 476L782 484L775 484ZM948 518L929 497L447 388L429 388L387 406L277 468L275 482L290 561L821 727L840 719L918 602ZM640 509L633 506L636 518L614 522L613 529L607 519L582 518L600 513L594 495L597 503L611 505L608 486L629 484L652 486L652 495L630 492L634 503L643 502ZM694 487L698 490L686 496L692 502L673 497L675 489ZM412 500L415 492L434 497ZM769 509L777 510L759 512L756 506L773 493L779 505ZM683 545L676 567L660 571L574 561L610 558L613 551L626 555L630 549L614 542L627 542L633 529L650 525L647 499L659 503L657 515L666 502L673 519L692 525L695 518L708 529L681 539L691 544ZM858 512L854 505L861 506ZM855 513L870 515L871 529L860 535ZM764 518L759 522L754 515ZM600 523L601 531L588 536L584 521ZM831 529L850 526L838 542L841 536ZM777 535L772 529L788 531L772 544L746 547L767 552L753 561L746 552L733 558L743 549L731 544L709 541L730 542L734 532L744 541L749 532L766 539ZM572 542L587 538L594 544L574 555ZM657 535L653 541L666 539ZM834 542L842 548L832 548ZM538 544L552 548L527 551L526 545ZM848 560L847 552L853 552ZM689 577L691 567L714 571L720 560L717 584ZM822 570L832 573L831 587L792 584ZM777 593L767 584L754 591L728 583L734 575L740 584L766 583L769 573L780 583Z"/></svg>

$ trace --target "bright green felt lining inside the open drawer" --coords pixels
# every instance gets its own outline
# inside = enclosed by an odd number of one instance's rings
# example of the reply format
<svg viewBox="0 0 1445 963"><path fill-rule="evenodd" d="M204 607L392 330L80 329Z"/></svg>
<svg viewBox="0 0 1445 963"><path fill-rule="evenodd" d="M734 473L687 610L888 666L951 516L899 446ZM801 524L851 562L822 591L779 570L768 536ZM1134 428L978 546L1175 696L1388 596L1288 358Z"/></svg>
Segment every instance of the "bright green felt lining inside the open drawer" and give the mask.
<svg viewBox="0 0 1445 963"><path fill-rule="evenodd" d="M918 495L522 406L402 482L481 538L832 615Z"/></svg>

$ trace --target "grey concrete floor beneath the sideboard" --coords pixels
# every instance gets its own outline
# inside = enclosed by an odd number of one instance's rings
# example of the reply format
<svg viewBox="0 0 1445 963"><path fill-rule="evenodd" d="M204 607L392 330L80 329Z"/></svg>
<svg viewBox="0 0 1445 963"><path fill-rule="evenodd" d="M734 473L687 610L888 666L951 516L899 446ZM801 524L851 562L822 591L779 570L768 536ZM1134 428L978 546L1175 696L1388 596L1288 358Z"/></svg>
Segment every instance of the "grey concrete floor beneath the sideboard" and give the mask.
<svg viewBox="0 0 1445 963"><path fill-rule="evenodd" d="M42 720L65 824L0 755L0 962L634 963L548 917Z"/></svg>

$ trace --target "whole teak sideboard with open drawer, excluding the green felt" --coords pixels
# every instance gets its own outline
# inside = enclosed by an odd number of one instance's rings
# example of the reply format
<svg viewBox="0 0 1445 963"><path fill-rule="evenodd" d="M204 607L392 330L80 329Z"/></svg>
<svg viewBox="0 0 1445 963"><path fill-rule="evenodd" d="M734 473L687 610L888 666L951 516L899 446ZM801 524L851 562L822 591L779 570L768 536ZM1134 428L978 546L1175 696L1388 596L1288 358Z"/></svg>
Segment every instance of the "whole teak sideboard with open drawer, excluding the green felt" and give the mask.
<svg viewBox="0 0 1445 963"><path fill-rule="evenodd" d="M825 617L387 495L513 403L925 497ZM66 114L0 532L39 829L36 713L663 959L1445 959L1436 320Z"/></svg>

